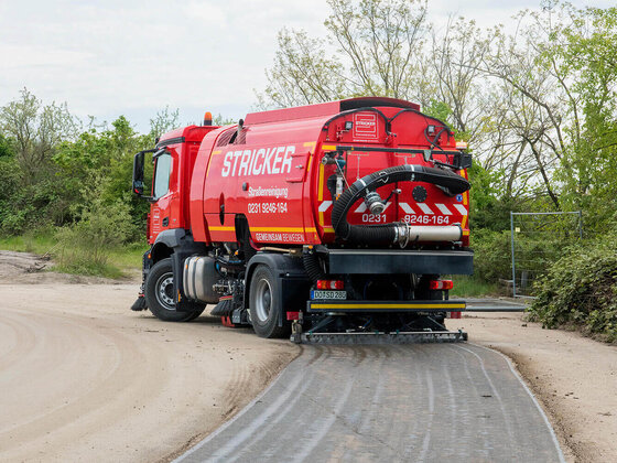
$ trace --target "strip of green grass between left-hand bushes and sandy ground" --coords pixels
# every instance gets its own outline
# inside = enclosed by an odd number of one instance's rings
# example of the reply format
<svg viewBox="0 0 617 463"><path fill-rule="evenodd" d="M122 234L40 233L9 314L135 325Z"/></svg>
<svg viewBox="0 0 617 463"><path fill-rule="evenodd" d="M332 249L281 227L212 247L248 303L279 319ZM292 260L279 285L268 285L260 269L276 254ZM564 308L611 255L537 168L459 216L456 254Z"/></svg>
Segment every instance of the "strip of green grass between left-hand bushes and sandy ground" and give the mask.
<svg viewBox="0 0 617 463"><path fill-rule="evenodd" d="M68 255L63 254L52 233L0 237L0 249L37 255L48 252L57 261L52 270L62 273L121 279L141 269L141 258L148 249L148 244L134 243L110 249L105 263L91 262L79 252L74 252L68 258Z"/></svg>

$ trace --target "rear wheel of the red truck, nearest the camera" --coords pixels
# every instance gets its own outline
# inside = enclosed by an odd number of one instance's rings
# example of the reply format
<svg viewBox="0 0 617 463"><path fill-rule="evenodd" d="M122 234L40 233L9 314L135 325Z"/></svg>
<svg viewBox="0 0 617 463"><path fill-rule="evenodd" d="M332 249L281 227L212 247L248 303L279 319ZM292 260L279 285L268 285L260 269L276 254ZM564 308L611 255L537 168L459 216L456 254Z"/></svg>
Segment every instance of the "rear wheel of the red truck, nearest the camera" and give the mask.
<svg viewBox="0 0 617 463"><path fill-rule="evenodd" d="M281 301L279 282L270 267L257 266L251 278L249 311L252 329L260 337L285 337L290 334L289 323L279 326Z"/></svg>

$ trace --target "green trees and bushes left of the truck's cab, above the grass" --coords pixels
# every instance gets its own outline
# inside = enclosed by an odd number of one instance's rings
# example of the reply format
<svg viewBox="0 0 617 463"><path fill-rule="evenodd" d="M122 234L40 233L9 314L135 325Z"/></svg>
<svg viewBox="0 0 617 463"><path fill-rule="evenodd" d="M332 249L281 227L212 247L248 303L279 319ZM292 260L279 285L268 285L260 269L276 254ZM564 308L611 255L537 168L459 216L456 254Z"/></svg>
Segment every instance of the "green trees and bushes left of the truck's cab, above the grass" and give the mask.
<svg viewBox="0 0 617 463"><path fill-rule="evenodd" d="M0 232L18 235L46 224L71 224L86 202L83 192L100 176L104 201L129 204L129 238L139 239L148 204L129 193L132 159L153 144L153 136L136 133L122 116L111 127L74 136L67 129L74 118L65 112L65 105L43 107L28 90L2 108L0 122L7 134L0 137ZM159 114L156 128L172 123L167 117ZM36 136L29 136L31 131Z"/></svg>

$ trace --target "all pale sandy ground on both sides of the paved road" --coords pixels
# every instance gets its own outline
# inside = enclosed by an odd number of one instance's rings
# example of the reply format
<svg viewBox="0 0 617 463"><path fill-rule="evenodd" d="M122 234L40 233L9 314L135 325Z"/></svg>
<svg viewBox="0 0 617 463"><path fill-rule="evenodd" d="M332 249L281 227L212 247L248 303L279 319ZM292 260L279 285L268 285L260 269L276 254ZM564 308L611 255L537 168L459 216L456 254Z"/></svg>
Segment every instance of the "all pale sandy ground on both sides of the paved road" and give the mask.
<svg viewBox="0 0 617 463"><path fill-rule="evenodd" d="M248 403L299 348L217 319L131 312L138 282L42 272L0 251L0 461L166 461ZM521 314L467 314L508 355L570 461L617 461L617 347Z"/></svg>

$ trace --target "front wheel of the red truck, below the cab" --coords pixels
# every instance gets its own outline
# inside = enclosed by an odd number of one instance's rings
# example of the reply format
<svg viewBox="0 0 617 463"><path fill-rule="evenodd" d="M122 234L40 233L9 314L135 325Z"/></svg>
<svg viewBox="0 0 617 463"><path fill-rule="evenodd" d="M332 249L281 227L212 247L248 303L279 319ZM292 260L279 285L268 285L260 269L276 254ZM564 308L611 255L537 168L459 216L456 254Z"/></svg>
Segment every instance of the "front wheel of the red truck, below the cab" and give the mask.
<svg viewBox="0 0 617 463"><path fill-rule="evenodd" d="M175 310L172 259L169 258L154 263L150 273L148 273L144 295L150 312L164 322L188 322L199 316L205 309L205 305L199 305L193 312L177 312Z"/></svg>

